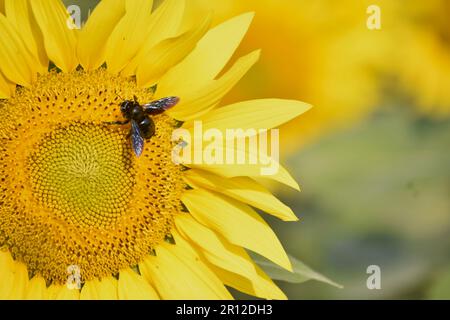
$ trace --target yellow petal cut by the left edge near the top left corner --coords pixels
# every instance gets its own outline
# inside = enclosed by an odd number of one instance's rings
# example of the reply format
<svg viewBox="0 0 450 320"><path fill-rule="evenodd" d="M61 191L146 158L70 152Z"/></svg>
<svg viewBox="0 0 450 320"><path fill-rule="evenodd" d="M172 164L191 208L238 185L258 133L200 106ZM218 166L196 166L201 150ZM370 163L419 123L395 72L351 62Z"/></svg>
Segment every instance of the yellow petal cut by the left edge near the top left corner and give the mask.
<svg viewBox="0 0 450 320"><path fill-rule="evenodd" d="M7 79L29 87L36 80L36 62L14 26L0 15L0 69Z"/></svg>

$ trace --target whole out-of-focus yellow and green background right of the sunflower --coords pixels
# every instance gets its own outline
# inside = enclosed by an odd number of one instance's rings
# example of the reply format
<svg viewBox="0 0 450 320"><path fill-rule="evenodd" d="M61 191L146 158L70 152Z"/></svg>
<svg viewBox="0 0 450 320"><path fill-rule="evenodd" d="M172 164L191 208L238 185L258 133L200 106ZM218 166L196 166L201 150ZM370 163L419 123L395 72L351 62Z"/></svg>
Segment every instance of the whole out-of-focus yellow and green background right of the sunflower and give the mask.
<svg viewBox="0 0 450 320"><path fill-rule="evenodd" d="M271 186L301 222L268 220L344 288L280 282L289 298L450 299L450 1L187 1L215 24L256 12L236 57L262 58L224 104L314 105L280 131L302 192ZM369 265L381 290L366 286Z"/></svg>

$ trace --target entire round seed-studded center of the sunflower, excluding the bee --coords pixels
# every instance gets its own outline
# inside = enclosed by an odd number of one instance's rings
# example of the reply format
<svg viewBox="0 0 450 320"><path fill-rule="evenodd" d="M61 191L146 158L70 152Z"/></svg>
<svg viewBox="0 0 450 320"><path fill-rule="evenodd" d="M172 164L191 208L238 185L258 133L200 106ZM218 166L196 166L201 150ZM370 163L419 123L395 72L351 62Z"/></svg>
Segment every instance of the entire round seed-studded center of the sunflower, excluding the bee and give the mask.
<svg viewBox="0 0 450 320"><path fill-rule="evenodd" d="M182 209L182 168L172 162L175 122L153 117L141 157L119 105L153 93L95 72L50 73L0 103L0 249L30 274L64 284L138 264L164 241Z"/></svg>

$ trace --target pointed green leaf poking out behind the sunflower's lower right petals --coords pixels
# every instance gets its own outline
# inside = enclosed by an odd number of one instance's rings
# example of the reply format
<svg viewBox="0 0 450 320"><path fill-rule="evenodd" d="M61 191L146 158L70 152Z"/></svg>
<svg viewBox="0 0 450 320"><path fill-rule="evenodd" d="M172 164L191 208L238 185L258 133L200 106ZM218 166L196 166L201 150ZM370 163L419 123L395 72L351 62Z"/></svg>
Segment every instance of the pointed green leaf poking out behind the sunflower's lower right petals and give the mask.
<svg viewBox="0 0 450 320"><path fill-rule="evenodd" d="M315 280L327 283L339 289L343 288L342 285L314 271L306 264L292 257L291 255L288 256L292 263L293 272L289 272L259 255L253 253L250 253L250 255L252 256L255 263L260 266L273 280L285 281L289 283L304 283L309 280Z"/></svg>

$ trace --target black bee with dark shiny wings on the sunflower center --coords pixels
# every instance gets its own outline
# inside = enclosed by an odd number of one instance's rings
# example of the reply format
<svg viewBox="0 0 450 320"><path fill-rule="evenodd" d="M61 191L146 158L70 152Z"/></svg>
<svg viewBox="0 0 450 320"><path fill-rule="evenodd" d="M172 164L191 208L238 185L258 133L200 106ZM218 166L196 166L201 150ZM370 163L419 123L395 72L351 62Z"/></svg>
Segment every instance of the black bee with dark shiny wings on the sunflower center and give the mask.
<svg viewBox="0 0 450 320"><path fill-rule="evenodd" d="M125 100L120 104L120 111L125 121L117 121L112 124L125 125L131 122L131 146L136 156L140 157L144 150L145 139L155 135L155 123L150 116L161 114L176 106L180 102L178 97L167 97L147 104L139 104L137 97L134 100Z"/></svg>

